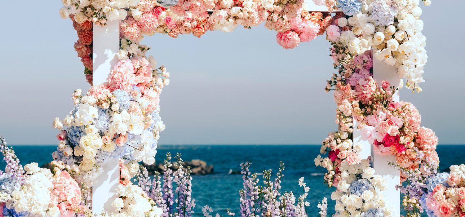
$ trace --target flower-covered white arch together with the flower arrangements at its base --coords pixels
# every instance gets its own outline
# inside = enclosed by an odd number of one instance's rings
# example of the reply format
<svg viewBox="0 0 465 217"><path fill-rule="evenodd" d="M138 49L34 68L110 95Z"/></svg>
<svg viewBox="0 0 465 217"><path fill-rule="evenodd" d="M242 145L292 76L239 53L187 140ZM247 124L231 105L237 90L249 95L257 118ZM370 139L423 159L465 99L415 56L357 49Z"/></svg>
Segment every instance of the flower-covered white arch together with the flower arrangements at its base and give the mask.
<svg viewBox="0 0 465 217"><path fill-rule="evenodd" d="M396 191L399 181L406 183L397 192L404 194L407 216L419 216L424 209L428 216L464 215L465 166L454 165L450 174L438 174L438 138L432 130L420 127L421 116L411 103L399 101L403 86L421 92L427 55L420 0L62 3L60 15L73 21L79 38L74 48L93 86L86 94L76 90L72 97L76 106L70 115L53 121L60 133L52 171L34 163L23 169L2 138L7 168L1 176L11 184L1 187L3 215L91 216L105 210L102 216L191 216L189 205L174 214L173 189L166 195L157 191L154 184L161 184L160 180L144 179L145 169L139 164L154 162L159 133L165 129L159 116L159 94L169 84L166 68L146 57L150 48L139 41L154 33L200 38L209 30L231 32L237 26L251 28L261 23L277 32L278 44L286 49L324 34L332 44L337 72L325 90L334 91L338 131L323 140L323 157L315 158L315 164L327 169L328 187L336 187L332 199L337 216L399 216L396 207L400 204L389 204L392 200L386 198ZM380 175L385 171L375 169L383 164L396 169L384 167L389 173ZM129 181L135 176L141 178L139 184ZM190 180L180 182L189 184ZM285 215L280 205L286 201L268 201L258 211L254 197L265 191L248 190L241 191L241 216ZM50 199L39 199L43 195ZM172 201L162 199L166 197ZM191 202L190 197L178 200ZM300 209L291 215L306 216L307 205L300 201Z"/></svg>

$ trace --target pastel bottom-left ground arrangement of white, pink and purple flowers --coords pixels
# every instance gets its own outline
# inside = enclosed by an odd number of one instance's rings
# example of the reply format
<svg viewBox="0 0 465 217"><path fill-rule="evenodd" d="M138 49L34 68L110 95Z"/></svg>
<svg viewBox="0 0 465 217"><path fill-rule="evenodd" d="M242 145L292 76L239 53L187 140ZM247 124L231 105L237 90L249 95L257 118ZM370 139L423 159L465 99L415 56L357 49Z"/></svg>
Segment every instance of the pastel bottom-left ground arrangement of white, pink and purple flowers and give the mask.
<svg viewBox="0 0 465 217"><path fill-rule="evenodd" d="M79 184L70 173L77 172L63 162L52 162L53 170L24 166L0 137L0 149L7 162L0 175L1 216L67 217L90 213L82 200Z"/></svg>

